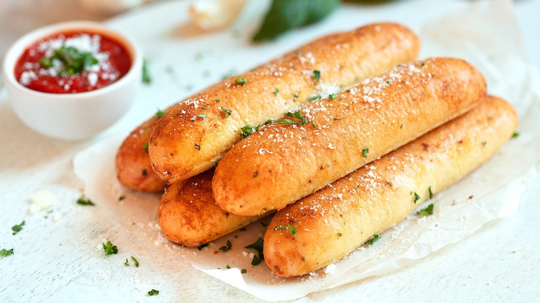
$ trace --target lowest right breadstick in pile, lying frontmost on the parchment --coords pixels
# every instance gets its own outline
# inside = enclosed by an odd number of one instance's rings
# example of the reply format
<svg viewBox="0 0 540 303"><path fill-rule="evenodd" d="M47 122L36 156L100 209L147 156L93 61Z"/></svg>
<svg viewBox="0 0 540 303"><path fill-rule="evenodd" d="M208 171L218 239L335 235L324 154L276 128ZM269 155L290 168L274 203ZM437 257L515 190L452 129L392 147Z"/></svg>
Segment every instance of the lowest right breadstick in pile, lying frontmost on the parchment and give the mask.
<svg viewBox="0 0 540 303"><path fill-rule="evenodd" d="M264 260L281 277L323 268L402 221L429 198L492 157L516 128L512 106L478 107L276 213ZM415 201L413 193L421 199ZM437 215L436 213L434 214ZM280 226L290 224L296 235Z"/></svg>

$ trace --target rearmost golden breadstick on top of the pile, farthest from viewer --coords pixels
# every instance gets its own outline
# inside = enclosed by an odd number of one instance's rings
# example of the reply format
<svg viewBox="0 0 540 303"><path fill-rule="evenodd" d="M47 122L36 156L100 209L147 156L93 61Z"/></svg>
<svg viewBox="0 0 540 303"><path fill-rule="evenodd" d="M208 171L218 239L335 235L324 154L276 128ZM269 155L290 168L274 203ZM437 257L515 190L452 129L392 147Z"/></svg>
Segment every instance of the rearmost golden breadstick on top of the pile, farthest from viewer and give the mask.
<svg viewBox="0 0 540 303"><path fill-rule="evenodd" d="M195 176L241 140L240 128L282 116L314 95L381 75L415 59L419 48L415 34L399 24L372 24L317 39L178 104L152 133L150 162L167 183Z"/></svg>

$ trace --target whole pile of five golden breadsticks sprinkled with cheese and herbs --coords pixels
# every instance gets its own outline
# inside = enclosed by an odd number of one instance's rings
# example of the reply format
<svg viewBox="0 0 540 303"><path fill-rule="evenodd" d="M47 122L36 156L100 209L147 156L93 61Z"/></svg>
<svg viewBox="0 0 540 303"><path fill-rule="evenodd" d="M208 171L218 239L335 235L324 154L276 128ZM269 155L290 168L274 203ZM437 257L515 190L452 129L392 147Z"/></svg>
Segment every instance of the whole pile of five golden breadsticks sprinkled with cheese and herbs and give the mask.
<svg viewBox="0 0 540 303"><path fill-rule="evenodd" d="M479 167L517 125L473 66L414 61L419 48L411 30L372 24L229 77L132 131L118 180L167 187L159 223L174 243L272 214L269 268L323 268Z"/></svg>

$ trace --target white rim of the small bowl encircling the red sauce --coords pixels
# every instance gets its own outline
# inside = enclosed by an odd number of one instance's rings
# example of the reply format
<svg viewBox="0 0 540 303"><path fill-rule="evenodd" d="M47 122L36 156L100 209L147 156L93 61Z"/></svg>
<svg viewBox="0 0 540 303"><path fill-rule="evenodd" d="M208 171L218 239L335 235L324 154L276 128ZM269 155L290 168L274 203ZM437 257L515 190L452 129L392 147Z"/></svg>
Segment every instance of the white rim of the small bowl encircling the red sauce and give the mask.
<svg viewBox="0 0 540 303"><path fill-rule="evenodd" d="M112 82L107 86L81 93L45 93L42 91L34 91L33 89L28 89L28 87L20 84L19 81L15 79L15 64L17 64L19 57L21 57L22 53L24 50L26 50L26 48L28 48L28 46L37 42L39 39L73 30L86 30L89 33L104 35L110 39L113 39L114 42L124 46L132 59L132 64L129 66L127 73L117 81ZM65 21L37 28L19 37L19 39L17 39L17 41L15 41L15 43L8 48L6 55L3 57L2 77L6 82L6 85L12 86L12 89L17 89L21 93L43 98L44 100L48 98L55 98L55 100L73 100L74 98L90 98L107 94L109 91L113 91L117 87L123 86L125 83L129 82L132 77L140 74L139 71L142 71L142 68L143 56L141 53L141 48L129 36L119 33L118 31L109 28L106 24L97 21ZM140 79L136 80L142 81Z"/></svg>

